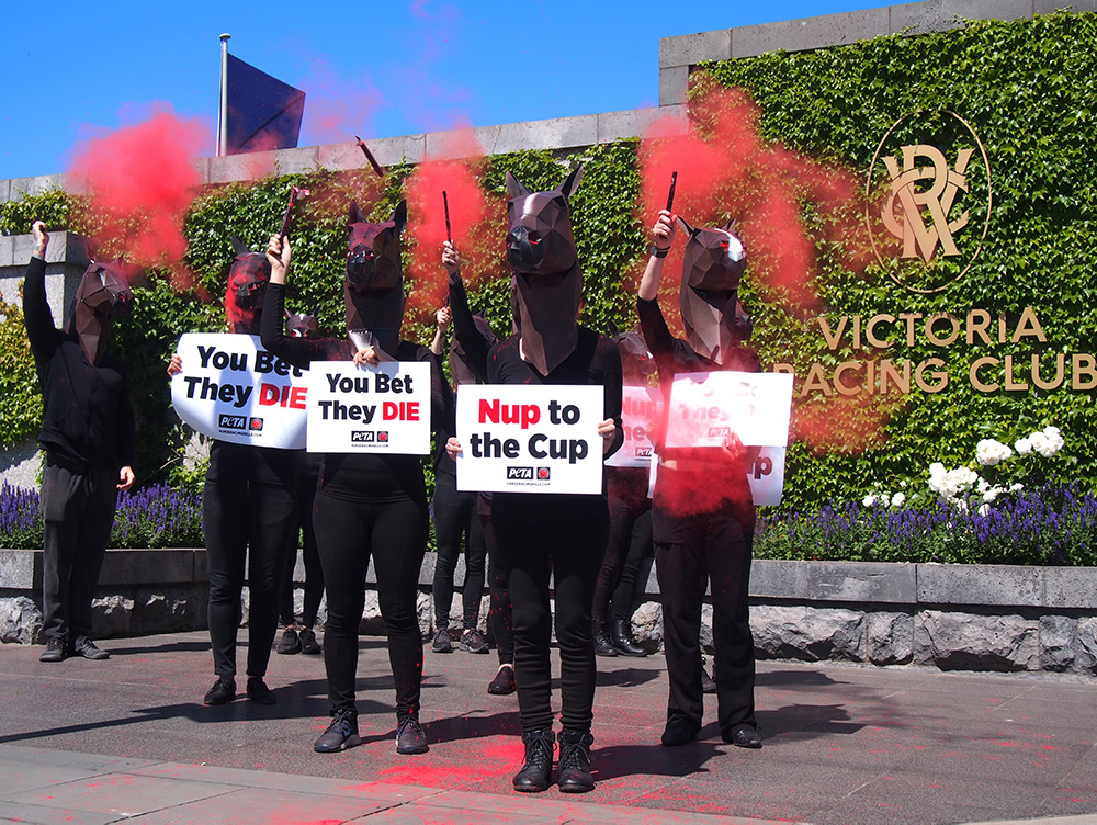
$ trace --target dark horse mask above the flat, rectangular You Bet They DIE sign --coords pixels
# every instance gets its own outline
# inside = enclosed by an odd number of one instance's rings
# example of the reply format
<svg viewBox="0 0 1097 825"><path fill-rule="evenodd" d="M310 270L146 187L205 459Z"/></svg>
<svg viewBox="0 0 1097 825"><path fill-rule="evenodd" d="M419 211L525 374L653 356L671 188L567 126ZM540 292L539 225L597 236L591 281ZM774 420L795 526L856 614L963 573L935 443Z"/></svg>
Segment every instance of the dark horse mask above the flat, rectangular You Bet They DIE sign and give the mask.
<svg viewBox="0 0 1097 825"><path fill-rule="evenodd" d="M408 222L407 203L400 201L385 223L372 224L352 201L350 222L343 284L347 332L360 350L375 344L394 355L404 318L400 234Z"/></svg>

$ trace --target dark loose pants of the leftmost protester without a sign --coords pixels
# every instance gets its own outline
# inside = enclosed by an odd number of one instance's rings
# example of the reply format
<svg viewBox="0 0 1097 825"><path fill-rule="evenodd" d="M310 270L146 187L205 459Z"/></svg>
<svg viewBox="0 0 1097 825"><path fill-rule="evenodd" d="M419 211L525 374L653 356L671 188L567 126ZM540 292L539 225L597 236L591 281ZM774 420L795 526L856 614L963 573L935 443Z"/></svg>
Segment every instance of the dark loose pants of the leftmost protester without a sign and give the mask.
<svg viewBox="0 0 1097 825"><path fill-rule="evenodd" d="M46 460L42 610L47 640L69 643L91 635L91 599L114 524L117 483L110 467L77 472Z"/></svg>

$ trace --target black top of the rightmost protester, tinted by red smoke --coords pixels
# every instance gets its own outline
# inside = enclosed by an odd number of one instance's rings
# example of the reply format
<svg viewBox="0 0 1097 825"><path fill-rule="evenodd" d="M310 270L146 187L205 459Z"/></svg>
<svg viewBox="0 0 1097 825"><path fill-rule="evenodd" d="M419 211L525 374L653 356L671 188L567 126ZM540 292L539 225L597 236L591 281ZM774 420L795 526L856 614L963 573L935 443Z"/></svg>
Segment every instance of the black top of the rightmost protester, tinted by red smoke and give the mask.
<svg viewBox="0 0 1097 825"><path fill-rule="evenodd" d="M663 389L663 418L655 430L655 452L663 459L679 461L679 467L682 470L690 468L690 463L693 462L710 466L723 464L725 457L720 448L668 449L666 447L667 422L670 419L670 388L674 385L675 376L680 372L717 372L721 370L760 372L761 362L758 360L758 354L747 347L736 347L728 350L728 357L724 363L712 361L698 354L688 342L675 338L670 334L657 300L637 298L636 310L640 314L640 328L644 334L644 340L647 342L652 355L655 357L655 365L659 371L659 386ZM742 466L728 464L731 475L736 478L742 477L744 486L747 485L749 462L753 461L751 452L756 453L757 450L747 451L747 457L738 462Z"/></svg>

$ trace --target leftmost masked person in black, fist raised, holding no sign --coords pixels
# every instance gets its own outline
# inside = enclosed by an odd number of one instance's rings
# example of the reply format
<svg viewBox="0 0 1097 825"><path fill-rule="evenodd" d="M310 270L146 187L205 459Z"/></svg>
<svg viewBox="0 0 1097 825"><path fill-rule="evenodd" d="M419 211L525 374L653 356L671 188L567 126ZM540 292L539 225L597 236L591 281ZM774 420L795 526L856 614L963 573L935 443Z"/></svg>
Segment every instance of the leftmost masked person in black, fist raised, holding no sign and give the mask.
<svg viewBox="0 0 1097 825"><path fill-rule="evenodd" d="M133 293L110 264L92 262L64 330L46 301L45 224L32 228L23 318L42 389L44 521L42 662L110 657L91 640L91 599L114 523L118 490L134 483L136 429L125 365L105 352L115 315Z"/></svg>

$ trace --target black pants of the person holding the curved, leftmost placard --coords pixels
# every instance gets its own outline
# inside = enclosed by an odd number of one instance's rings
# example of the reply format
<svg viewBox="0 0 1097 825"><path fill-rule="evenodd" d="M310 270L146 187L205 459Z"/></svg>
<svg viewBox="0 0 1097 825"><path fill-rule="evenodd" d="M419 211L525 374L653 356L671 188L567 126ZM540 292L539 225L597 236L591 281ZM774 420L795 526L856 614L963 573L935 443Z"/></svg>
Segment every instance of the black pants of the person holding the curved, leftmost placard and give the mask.
<svg viewBox="0 0 1097 825"><path fill-rule="evenodd" d="M248 676L263 676L278 624L278 586L296 543L293 491L281 484L211 481L202 493L210 569L210 641L217 676L236 676L236 633L247 563Z"/></svg>

